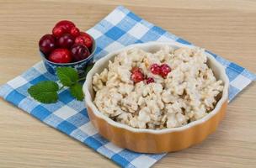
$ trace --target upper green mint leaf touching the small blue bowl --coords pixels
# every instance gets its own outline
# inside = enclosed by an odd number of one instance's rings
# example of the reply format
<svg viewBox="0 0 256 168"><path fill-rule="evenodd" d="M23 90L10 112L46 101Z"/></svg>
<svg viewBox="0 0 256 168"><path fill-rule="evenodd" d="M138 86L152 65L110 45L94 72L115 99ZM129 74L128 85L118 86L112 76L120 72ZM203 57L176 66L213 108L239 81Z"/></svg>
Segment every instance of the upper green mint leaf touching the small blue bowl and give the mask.
<svg viewBox="0 0 256 168"><path fill-rule="evenodd" d="M57 76L60 79L63 86L71 87L77 83L78 74L77 71L71 67L58 67L56 69Z"/></svg>

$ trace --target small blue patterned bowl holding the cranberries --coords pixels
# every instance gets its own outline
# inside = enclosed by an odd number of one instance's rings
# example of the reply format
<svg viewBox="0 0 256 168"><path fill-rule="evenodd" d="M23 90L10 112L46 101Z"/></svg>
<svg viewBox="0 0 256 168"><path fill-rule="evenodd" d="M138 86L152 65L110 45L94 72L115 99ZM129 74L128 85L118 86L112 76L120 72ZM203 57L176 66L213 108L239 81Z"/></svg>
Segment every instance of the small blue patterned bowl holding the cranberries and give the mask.
<svg viewBox="0 0 256 168"><path fill-rule="evenodd" d="M92 36L91 36L91 38L93 39ZM97 48L96 42L95 42L95 39L93 39L93 48L91 50L92 51L91 55L89 55L84 60L80 60L80 61L72 62L72 63L55 63L55 62L52 62L50 60L47 60L45 55L41 51L40 51L40 56L41 56L42 60L44 61L46 70L49 71L52 75L56 75L56 68L57 67L72 67L75 70L77 70L79 76L83 76L86 66L93 63L93 56L94 56L96 48Z"/></svg>

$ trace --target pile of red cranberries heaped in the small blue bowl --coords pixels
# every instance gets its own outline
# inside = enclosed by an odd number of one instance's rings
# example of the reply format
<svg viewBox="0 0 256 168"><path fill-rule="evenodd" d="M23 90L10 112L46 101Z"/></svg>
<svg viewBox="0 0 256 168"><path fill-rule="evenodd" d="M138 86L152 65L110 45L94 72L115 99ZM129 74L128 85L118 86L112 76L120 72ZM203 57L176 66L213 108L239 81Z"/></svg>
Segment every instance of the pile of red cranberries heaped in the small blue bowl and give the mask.
<svg viewBox="0 0 256 168"><path fill-rule="evenodd" d="M52 34L41 37L39 48L46 59L52 62L77 62L91 55L93 39L71 21L61 20L52 29Z"/></svg>

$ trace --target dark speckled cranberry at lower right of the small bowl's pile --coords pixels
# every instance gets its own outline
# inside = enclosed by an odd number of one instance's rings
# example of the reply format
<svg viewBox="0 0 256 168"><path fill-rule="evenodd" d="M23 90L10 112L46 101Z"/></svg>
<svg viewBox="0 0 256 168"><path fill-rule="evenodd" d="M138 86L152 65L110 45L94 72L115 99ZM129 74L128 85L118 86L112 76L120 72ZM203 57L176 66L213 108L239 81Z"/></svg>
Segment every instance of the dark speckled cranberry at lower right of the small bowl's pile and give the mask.
<svg viewBox="0 0 256 168"><path fill-rule="evenodd" d="M71 48L72 57L75 61L86 59L90 51L85 45L75 44Z"/></svg>

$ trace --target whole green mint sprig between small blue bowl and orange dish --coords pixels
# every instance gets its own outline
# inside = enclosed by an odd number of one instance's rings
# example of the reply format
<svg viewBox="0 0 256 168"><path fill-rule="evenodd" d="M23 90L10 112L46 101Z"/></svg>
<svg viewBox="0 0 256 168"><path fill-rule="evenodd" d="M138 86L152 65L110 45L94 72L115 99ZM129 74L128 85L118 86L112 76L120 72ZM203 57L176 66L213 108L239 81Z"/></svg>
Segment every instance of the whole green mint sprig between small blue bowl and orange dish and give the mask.
<svg viewBox="0 0 256 168"><path fill-rule="evenodd" d="M93 65L88 65L85 69L85 76L92 69ZM58 92L63 87L68 87L72 97L79 101L83 101L83 87L79 81L83 81L85 76L79 78L78 73L71 67L58 67L56 75L60 80L61 87L55 81L40 81L32 87L29 87L28 92L38 102L54 103L58 101Z"/></svg>

